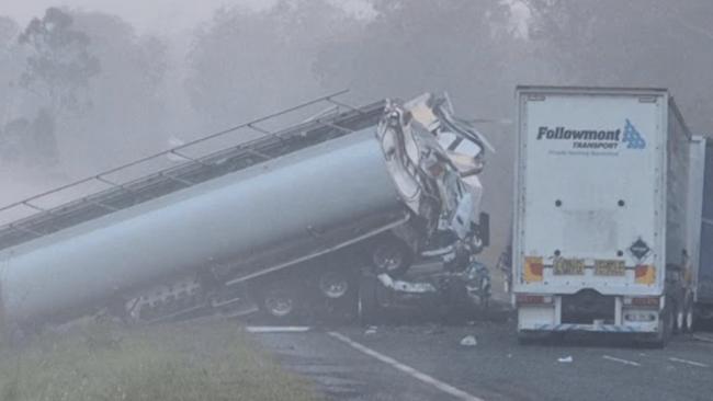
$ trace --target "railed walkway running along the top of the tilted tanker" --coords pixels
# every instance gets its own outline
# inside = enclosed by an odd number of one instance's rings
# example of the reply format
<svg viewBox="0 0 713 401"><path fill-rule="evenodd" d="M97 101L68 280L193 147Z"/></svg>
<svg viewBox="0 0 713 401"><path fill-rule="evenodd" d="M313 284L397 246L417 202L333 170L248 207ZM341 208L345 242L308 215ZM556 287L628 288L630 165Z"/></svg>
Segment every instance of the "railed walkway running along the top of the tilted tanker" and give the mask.
<svg viewBox="0 0 713 401"><path fill-rule="evenodd" d="M0 207L0 250L376 125L384 102L354 107L338 99L344 93L317 98ZM237 134L259 137L241 141Z"/></svg>

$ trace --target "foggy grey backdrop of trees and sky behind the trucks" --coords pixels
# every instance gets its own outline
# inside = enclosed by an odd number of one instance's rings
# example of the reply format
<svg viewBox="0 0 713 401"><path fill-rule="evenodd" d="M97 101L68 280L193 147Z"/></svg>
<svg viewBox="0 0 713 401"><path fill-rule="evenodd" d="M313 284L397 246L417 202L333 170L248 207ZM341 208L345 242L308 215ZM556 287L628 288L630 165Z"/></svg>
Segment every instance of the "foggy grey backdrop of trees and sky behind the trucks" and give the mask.
<svg viewBox="0 0 713 401"><path fill-rule="evenodd" d="M493 257L510 220L516 84L665 87L694 133L713 130L704 0L195 4L0 8L1 204L335 90L353 104L448 91L497 149Z"/></svg>

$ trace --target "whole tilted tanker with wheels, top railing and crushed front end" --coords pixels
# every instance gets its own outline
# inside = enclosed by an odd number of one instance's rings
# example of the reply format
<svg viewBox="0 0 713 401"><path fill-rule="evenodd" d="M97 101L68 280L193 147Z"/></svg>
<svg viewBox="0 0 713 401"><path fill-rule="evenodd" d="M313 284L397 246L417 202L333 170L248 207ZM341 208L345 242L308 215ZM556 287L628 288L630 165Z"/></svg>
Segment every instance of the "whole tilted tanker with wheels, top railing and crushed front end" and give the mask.
<svg viewBox="0 0 713 401"><path fill-rule="evenodd" d="M363 314L378 305L365 290L374 285L459 287L487 302L475 255L488 243L478 173L490 145L448 98L352 107L337 95L1 208L33 211L0 227L2 324L100 311L139 322L256 309L284 319L319 306ZM263 128L324 104L339 108ZM264 135L204 150L240 129ZM168 165L118 177L157 161ZM104 187L48 206L88 183ZM442 264L435 285L404 278L421 261Z"/></svg>

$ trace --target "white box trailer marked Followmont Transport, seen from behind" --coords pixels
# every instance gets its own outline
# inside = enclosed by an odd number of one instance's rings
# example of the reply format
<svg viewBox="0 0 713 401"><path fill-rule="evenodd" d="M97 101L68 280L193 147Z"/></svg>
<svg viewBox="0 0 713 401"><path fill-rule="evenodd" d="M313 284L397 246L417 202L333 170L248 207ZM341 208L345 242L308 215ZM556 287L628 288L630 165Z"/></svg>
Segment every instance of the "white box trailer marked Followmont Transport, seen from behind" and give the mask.
<svg viewBox="0 0 713 401"><path fill-rule="evenodd" d="M522 340L686 318L690 135L663 89L518 87L513 302Z"/></svg>

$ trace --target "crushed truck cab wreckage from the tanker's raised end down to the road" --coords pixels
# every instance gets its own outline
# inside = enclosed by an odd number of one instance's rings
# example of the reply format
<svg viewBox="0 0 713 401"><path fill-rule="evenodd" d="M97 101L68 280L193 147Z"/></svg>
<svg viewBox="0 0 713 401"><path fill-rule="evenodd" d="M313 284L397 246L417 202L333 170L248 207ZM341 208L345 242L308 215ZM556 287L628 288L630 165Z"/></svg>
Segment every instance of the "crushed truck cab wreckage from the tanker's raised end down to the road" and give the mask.
<svg viewBox="0 0 713 401"><path fill-rule="evenodd" d="M408 276L404 271L362 276L358 299L362 323L374 323L387 309L438 306L467 316L489 305L489 271L475 255L489 243L478 174L485 150L494 149L452 116L446 100L427 93L406 103L387 102L385 107L377 133L396 186L411 196L412 210L428 205L439 209L438 216L422 214L435 225L427 228L426 242L414 259L440 267Z"/></svg>

